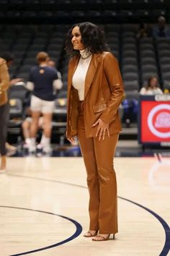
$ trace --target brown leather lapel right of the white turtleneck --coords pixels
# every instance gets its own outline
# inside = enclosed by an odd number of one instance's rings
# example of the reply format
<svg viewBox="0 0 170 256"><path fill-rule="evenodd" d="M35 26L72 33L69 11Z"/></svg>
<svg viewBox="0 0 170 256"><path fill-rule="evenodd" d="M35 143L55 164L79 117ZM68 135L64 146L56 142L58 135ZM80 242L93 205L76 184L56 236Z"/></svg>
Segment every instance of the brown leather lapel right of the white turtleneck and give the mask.
<svg viewBox="0 0 170 256"><path fill-rule="evenodd" d="M86 80L85 80L85 88L84 88L84 100L86 98L87 93L89 92L89 88L91 87L91 83L93 82L94 75L97 72L97 66L100 62L99 58L100 54L93 54L90 64L89 64L89 69L87 70L86 73Z"/></svg>

